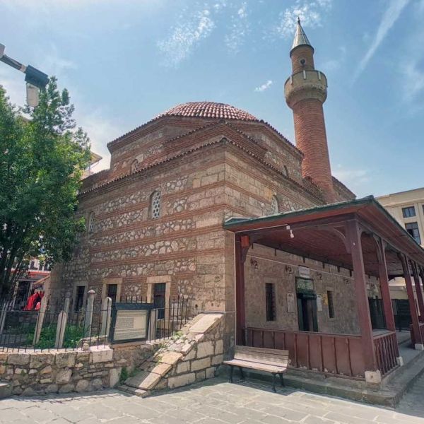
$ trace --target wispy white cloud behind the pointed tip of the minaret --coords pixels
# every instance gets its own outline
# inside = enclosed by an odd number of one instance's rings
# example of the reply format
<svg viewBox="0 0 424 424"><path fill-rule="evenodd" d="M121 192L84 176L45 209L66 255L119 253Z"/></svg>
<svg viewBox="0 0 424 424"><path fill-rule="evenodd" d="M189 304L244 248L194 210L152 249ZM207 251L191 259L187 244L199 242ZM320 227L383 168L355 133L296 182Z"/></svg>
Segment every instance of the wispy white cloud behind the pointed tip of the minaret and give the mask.
<svg viewBox="0 0 424 424"><path fill-rule="evenodd" d="M298 17L304 28L316 28L322 25L322 16L331 8L332 0L296 0L293 6L280 13L274 33L284 38L293 37Z"/></svg>

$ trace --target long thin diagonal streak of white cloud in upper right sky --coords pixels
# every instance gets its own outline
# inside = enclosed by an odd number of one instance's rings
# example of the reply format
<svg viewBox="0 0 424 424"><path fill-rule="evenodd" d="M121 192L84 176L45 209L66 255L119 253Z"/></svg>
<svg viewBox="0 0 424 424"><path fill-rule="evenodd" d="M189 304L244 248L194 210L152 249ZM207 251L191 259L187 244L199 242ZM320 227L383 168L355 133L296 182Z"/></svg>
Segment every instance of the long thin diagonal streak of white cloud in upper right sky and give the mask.
<svg viewBox="0 0 424 424"><path fill-rule="evenodd" d="M394 25L394 23L396 23L396 20L398 20L399 16L401 15L401 12L404 10L405 6L408 3L409 0L390 1L389 7L383 13L382 20L380 20L379 26L377 28L377 33L375 33L370 47L368 47L365 56L358 65L358 69L356 70L354 79L358 78L360 73L362 73L362 71L365 69L370 59L372 59L375 52L377 51L379 45L387 36L387 33L389 33L389 30Z"/></svg>

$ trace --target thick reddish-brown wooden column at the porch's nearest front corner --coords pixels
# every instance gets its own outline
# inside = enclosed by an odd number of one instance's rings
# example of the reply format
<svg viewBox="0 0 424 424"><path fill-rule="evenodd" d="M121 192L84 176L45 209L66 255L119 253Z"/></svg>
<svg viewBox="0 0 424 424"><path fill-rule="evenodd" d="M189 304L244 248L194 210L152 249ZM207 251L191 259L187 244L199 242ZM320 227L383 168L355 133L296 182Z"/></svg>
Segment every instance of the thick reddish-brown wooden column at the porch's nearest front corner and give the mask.
<svg viewBox="0 0 424 424"><path fill-rule="evenodd" d="M363 344L365 372L373 372L377 371L377 361L375 359L374 338L372 337L370 305L368 304L363 250L360 242L360 235L362 231L359 228L358 221L355 220L351 220L346 223L346 229L352 254L353 284L355 286L356 303L358 305L358 319Z"/></svg>

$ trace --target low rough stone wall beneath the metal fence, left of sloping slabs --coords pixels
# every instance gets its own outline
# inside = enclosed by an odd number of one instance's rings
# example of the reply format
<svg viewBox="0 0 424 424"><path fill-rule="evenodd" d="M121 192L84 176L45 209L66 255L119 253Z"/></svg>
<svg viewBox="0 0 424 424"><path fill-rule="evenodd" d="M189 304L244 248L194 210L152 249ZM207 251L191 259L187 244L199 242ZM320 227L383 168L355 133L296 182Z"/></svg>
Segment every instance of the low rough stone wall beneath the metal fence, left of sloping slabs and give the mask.
<svg viewBox="0 0 424 424"><path fill-rule="evenodd" d="M11 382L13 394L25 396L114 387L122 367L139 367L153 349L143 344L89 351L0 352L0 380Z"/></svg>

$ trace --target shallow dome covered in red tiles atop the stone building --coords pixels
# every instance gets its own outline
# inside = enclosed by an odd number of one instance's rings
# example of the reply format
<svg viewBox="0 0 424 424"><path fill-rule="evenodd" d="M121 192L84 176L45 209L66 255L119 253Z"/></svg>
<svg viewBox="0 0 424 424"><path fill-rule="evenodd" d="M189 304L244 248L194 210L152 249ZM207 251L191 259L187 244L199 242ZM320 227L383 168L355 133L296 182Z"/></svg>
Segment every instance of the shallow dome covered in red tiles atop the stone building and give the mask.
<svg viewBox="0 0 424 424"><path fill-rule="evenodd" d="M216 102L188 102L181 103L171 107L170 110L161 113L158 117L175 116L175 117L200 117L200 118L215 118L215 119L240 119L242 121L258 121L245 110L237 109L225 103Z"/></svg>

